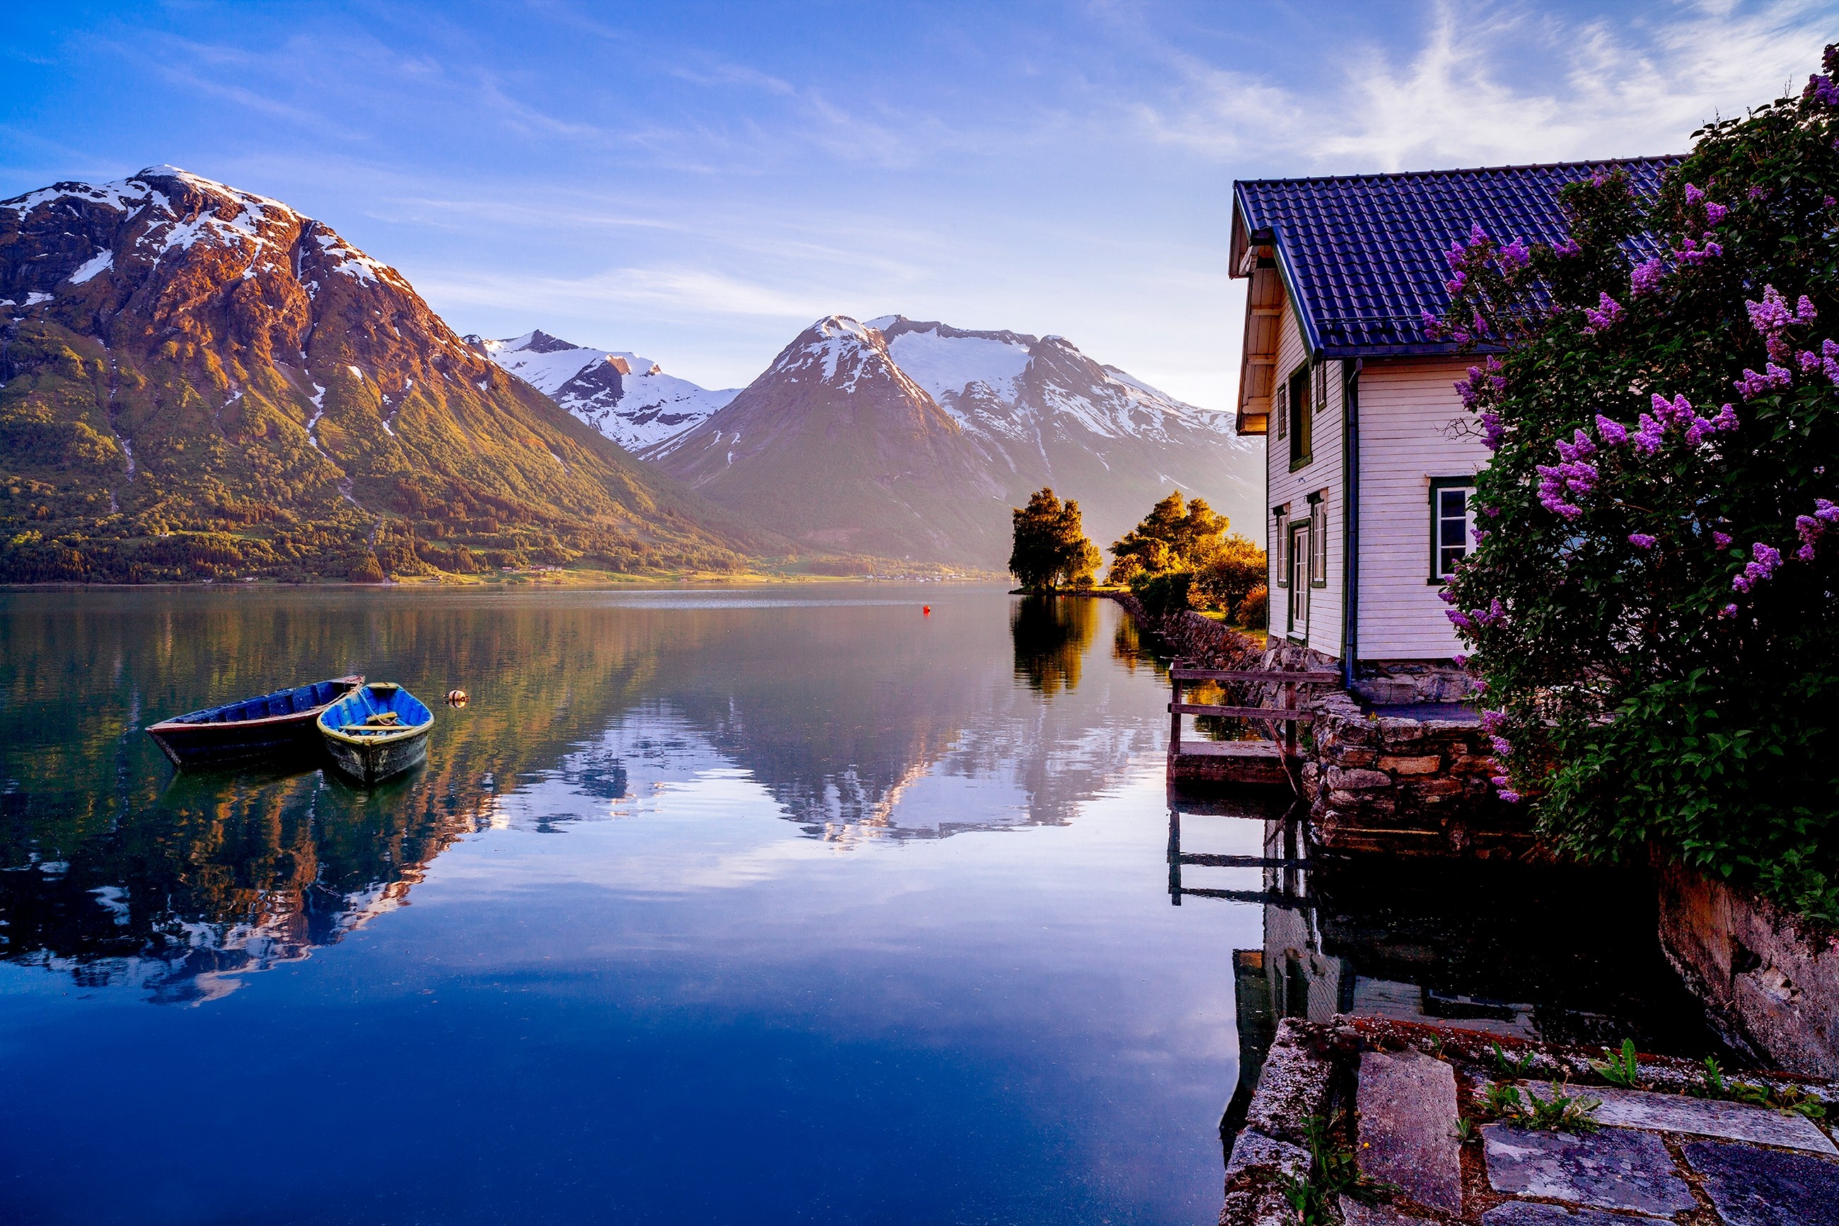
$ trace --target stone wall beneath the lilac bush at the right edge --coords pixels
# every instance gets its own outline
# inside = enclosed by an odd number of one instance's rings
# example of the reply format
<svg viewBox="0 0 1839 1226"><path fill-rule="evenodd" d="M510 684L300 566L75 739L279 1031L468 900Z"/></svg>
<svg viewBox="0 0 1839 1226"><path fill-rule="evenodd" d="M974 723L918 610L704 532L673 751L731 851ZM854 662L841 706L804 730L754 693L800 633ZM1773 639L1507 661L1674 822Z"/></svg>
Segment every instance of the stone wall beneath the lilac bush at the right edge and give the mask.
<svg viewBox="0 0 1839 1226"><path fill-rule="evenodd" d="M1725 1040L1771 1064L1839 1077L1839 934L1659 858L1661 948Z"/></svg>

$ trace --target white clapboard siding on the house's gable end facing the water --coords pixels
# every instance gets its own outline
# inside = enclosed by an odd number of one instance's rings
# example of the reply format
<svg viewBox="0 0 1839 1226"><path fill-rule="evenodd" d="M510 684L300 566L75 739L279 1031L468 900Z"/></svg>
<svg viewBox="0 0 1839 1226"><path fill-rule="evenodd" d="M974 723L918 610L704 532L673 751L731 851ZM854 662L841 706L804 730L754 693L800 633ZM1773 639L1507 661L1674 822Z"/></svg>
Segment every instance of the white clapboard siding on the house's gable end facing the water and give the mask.
<svg viewBox="0 0 1839 1226"><path fill-rule="evenodd" d="M1289 379L1291 371L1302 364L1308 351L1289 296L1284 298L1284 314L1278 320L1278 353L1274 382ZM1289 625L1289 588L1278 586L1276 579L1276 517L1274 507L1289 504L1291 522L1308 518L1309 494L1324 493L1328 502L1328 586L1309 588L1309 638L1315 651L1341 658L1341 614L1342 614L1342 550L1346 533L1342 531L1342 437L1341 437L1341 364L1328 366L1328 408L1315 415L1309 432L1309 463L1296 472L1289 471L1289 436L1276 436L1276 417L1265 430L1265 550L1271 559L1271 634L1284 636ZM1247 531L1247 535L1251 535Z"/></svg>

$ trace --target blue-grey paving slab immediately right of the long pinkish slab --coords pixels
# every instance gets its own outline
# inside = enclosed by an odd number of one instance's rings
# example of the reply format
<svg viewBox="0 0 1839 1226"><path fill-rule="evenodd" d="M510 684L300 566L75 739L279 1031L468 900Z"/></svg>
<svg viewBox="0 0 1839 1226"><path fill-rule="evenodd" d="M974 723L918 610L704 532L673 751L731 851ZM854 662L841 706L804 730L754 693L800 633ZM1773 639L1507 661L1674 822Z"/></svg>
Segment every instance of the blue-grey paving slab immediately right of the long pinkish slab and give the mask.
<svg viewBox="0 0 1839 1226"><path fill-rule="evenodd" d="M1482 1147L1495 1191L1644 1213L1679 1213L1696 1204L1651 1132L1534 1132L1491 1123L1482 1129Z"/></svg>

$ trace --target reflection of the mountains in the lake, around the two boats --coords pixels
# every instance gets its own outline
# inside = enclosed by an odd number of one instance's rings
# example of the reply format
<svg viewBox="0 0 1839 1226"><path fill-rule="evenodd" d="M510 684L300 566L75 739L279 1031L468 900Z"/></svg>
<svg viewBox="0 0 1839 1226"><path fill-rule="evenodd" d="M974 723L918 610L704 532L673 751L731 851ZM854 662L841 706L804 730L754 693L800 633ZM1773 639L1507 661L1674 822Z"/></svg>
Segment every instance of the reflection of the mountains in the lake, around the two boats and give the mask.
<svg viewBox="0 0 1839 1226"><path fill-rule="evenodd" d="M934 599L938 599L934 596ZM1065 822L1160 748L1153 695L1092 667L1114 607L645 608L346 592L0 597L0 958L230 991L399 906L489 825L565 829L747 770L815 836ZM180 776L140 732L278 680L366 671L441 708L425 770ZM1142 711L1137 711L1142 708Z"/></svg>

